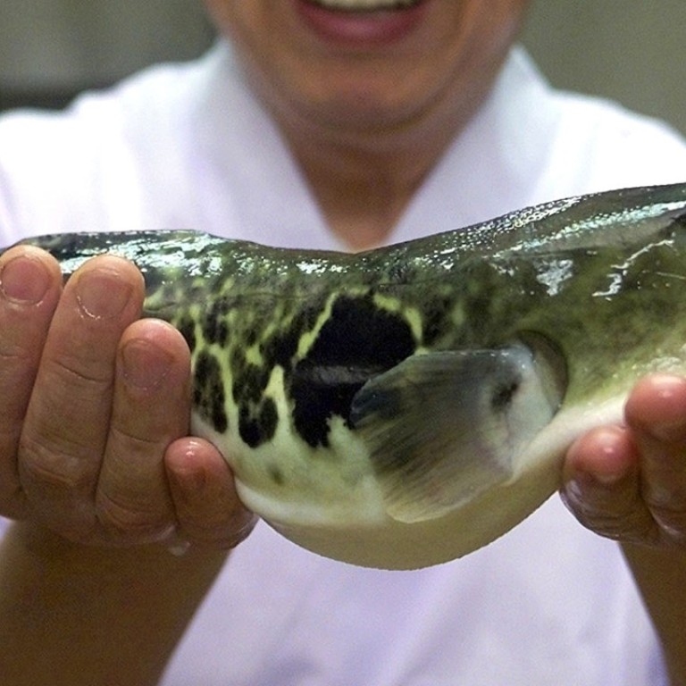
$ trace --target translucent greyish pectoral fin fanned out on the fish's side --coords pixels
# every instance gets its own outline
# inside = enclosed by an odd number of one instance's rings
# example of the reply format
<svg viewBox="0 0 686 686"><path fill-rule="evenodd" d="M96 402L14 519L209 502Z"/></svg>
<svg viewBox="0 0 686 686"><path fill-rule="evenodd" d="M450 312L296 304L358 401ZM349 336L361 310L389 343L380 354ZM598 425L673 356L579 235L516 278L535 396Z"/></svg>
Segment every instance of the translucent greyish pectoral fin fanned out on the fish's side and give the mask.
<svg viewBox="0 0 686 686"><path fill-rule="evenodd" d="M411 356L367 381L350 423L389 515L430 520L513 478L517 456L556 413L544 377L517 344Z"/></svg>

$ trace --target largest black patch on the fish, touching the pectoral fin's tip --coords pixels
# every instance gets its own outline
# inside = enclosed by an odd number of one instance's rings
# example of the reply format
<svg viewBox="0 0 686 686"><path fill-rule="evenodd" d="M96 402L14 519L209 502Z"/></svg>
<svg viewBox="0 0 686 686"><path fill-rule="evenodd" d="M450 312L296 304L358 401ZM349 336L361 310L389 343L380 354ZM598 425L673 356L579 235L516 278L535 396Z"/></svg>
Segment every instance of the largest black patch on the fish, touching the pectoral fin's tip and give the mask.
<svg viewBox="0 0 686 686"><path fill-rule="evenodd" d="M293 370L293 421L313 447L329 445L329 422L348 421L353 396L365 381L414 353L408 323L372 297L341 296L307 356Z"/></svg>

